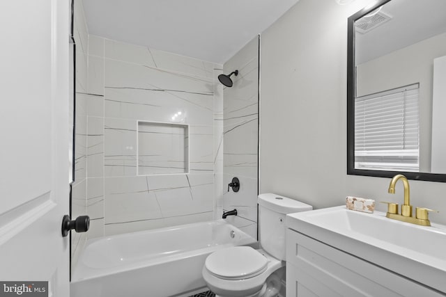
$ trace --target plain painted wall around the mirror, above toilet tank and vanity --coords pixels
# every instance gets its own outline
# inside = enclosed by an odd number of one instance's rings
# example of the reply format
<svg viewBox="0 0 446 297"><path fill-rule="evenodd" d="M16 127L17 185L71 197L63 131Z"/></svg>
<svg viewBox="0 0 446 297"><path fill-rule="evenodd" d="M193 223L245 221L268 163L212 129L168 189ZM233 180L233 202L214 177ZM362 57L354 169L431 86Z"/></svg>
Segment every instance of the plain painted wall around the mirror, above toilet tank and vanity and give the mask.
<svg viewBox="0 0 446 297"><path fill-rule="evenodd" d="M346 195L402 202L403 187L388 194L388 178L346 175L347 18L372 2L300 0L262 34L261 193L316 208ZM410 181L410 191L414 206L446 223L446 184Z"/></svg>

